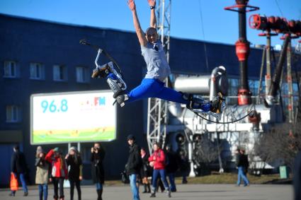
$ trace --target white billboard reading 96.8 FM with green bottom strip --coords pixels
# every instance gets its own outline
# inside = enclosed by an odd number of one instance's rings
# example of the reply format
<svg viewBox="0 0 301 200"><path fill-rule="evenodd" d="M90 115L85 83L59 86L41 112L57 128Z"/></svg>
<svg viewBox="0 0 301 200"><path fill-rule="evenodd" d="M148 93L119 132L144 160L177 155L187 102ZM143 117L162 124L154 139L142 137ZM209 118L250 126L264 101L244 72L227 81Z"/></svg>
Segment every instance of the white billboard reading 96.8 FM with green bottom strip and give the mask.
<svg viewBox="0 0 301 200"><path fill-rule="evenodd" d="M110 90L30 96L30 143L116 139L116 106Z"/></svg>

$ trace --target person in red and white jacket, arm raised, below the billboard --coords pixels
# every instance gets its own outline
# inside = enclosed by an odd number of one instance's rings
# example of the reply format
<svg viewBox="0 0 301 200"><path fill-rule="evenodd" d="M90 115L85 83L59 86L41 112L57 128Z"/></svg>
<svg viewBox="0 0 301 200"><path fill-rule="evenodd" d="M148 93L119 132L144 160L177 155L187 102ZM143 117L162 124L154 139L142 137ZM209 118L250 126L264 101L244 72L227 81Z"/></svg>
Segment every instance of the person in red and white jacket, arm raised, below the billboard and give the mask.
<svg viewBox="0 0 301 200"><path fill-rule="evenodd" d="M52 163L53 199L64 200L64 180L67 180L67 167L62 152L58 147L53 148L47 153L45 159Z"/></svg>

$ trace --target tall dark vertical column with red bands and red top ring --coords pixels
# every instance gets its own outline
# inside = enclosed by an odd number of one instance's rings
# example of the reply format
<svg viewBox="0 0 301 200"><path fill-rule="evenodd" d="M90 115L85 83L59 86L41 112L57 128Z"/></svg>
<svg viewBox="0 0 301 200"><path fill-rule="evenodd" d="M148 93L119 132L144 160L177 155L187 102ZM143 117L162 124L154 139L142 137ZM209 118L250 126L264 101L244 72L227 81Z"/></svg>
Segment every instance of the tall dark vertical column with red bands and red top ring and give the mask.
<svg viewBox="0 0 301 200"><path fill-rule="evenodd" d="M246 12L259 10L259 7L249 6L249 0L236 0L236 5L225 7L225 10L239 13L239 39L235 43L236 54L239 60L240 88L238 90L238 105L251 104L251 91L248 83L248 58L250 42L246 40Z"/></svg>

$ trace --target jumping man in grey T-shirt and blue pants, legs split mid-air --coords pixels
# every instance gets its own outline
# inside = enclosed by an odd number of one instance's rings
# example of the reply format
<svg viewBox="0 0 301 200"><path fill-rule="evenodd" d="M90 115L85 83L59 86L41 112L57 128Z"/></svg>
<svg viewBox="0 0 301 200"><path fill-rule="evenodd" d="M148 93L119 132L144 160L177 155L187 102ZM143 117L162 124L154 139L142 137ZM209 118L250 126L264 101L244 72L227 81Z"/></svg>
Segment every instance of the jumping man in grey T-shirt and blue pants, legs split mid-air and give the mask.
<svg viewBox="0 0 301 200"><path fill-rule="evenodd" d="M137 16L135 1L127 1L130 11L132 11L132 19L140 42L142 56L147 64L147 74L143 78L140 86L131 90L130 93L115 94L114 96L117 96L117 102L123 107L127 102L133 102L144 98L160 98L171 102L186 104L190 109L201 109L205 112L211 111L220 113L222 111L221 94L220 98L217 98L217 100L207 102L198 98L192 98L191 95L164 86L164 80L171 73L171 69L156 29L157 21L154 11L156 0L148 0L148 3L151 11L150 26L144 33Z"/></svg>

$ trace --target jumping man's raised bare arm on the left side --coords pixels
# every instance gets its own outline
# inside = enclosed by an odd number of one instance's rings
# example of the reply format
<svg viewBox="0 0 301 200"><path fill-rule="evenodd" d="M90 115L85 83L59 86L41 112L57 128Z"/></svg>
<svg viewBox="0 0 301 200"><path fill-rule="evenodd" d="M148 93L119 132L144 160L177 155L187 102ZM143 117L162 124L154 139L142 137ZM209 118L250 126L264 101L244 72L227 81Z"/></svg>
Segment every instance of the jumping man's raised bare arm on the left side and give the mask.
<svg viewBox="0 0 301 200"><path fill-rule="evenodd" d="M136 5L134 0L129 0L127 1L127 4L132 11L132 20L134 22L135 30L137 33L138 40L140 42L140 45L142 46L147 46L147 38L144 36L143 30L140 26L140 22L137 16L137 11L136 11Z"/></svg>

